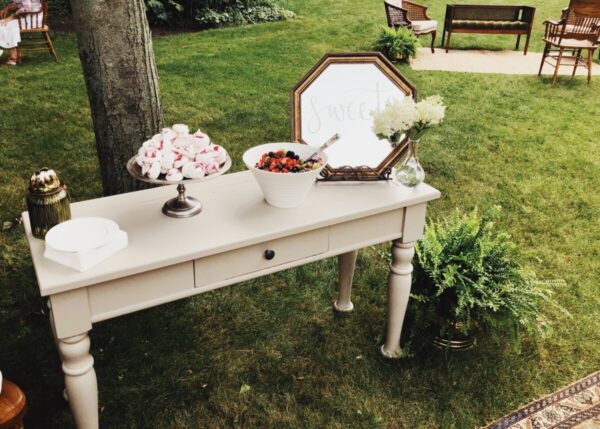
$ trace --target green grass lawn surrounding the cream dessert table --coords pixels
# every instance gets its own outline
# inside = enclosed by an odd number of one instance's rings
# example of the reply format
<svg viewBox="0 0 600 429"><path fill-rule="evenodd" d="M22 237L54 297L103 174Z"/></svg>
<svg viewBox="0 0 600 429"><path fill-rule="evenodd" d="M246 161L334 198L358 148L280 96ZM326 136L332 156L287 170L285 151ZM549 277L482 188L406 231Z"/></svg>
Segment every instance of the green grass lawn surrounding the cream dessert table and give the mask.
<svg viewBox="0 0 600 429"><path fill-rule="evenodd" d="M369 48L385 23L381 3L290 0L293 21L155 39L166 122L201 127L242 170L245 149L289 138L290 90L317 59ZM445 5L426 3L441 21ZM540 51L542 20L566 1L529 4ZM458 48L514 41L453 37ZM55 44L58 64L40 54L0 69L3 222L24 210L41 166L60 173L74 200L101 196L76 41L59 34ZM332 259L96 325L101 427L474 428L600 368L600 79L561 77L553 88L547 77L401 71L420 96L449 106L423 139L426 180L442 192L430 216L502 205L500 224L527 267L564 281L557 298L572 317L549 310L553 334L525 339L520 355L484 337L461 354L386 361L387 269L366 249L347 316L331 310ZM0 246L0 369L28 395L26 427L72 427L22 227L4 231Z"/></svg>

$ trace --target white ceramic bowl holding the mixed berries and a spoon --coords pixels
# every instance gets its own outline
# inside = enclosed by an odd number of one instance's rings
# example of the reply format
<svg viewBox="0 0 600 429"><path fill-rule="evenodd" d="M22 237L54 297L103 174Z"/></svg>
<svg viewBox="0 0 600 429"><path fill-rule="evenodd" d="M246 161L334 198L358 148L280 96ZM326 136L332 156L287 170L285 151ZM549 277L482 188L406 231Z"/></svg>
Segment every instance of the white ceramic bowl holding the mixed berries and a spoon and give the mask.
<svg viewBox="0 0 600 429"><path fill-rule="evenodd" d="M265 200L273 207L292 208L302 205L311 188L315 185L321 170L327 164L327 156L321 152L323 159L320 168L302 173L273 173L255 167L263 153L278 150L292 150L300 159L305 159L315 151L315 148L302 143L267 143L248 149L244 153L244 163L252 171L254 178L263 191Z"/></svg>

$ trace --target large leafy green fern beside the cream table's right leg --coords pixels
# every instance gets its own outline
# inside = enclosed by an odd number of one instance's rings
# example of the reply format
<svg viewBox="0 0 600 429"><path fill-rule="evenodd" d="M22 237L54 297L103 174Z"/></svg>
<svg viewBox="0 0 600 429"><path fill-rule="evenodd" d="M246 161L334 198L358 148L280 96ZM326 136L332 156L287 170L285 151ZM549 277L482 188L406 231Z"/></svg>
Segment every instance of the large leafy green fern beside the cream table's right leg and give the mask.
<svg viewBox="0 0 600 429"><path fill-rule="evenodd" d="M432 334L456 339L474 327L508 330L519 351L521 332L543 328L543 303L565 311L521 267L517 246L494 223L499 212L499 207L483 216L477 210L457 212L427 225L415 247L407 351Z"/></svg>

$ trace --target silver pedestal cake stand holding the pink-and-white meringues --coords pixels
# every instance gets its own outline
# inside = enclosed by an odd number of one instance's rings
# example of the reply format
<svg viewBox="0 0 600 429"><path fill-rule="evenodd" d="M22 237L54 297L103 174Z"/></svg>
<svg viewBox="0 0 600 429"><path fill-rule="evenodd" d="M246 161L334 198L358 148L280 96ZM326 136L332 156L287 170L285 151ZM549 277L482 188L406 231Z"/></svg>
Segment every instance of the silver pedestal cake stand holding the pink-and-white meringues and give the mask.
<svg viewBox="0 0 600 429"><path fill-rule="evenodd" d="M202 203L194 197L188 197L185 194L186 183L198 183L205 180L214 179L220 176L231 168L231 158L227 154L227 159L216 173L204 176L201 179L184 179L179 181L168 181L164 179L164 174L161 174L156 179L150 179L142 174L142 168L135 162L137 155L127 161L127 171L140 182L152 183L154 185L177 185L178 195L171 198L163 205L163 213L170 217L185 218L197 215L202 211ZM163 177L161 179L161 177Z"/></svg>

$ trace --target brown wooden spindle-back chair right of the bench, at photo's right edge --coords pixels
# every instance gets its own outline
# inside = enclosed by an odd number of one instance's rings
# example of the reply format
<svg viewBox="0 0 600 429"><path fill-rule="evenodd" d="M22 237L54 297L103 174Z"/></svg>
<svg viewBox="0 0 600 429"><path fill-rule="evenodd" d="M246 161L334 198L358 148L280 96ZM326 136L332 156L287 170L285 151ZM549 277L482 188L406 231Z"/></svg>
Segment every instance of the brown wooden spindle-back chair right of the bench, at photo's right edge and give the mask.
<svg viewBox="0 0 600 429"><path fill-rule="evenodd" d="M571 0L559 21L545 21L544 53L538 75L544 64L554 66L552 84L558 78L561 65L573 67L573 76L579 66L588 70L588 84L592 81L592 57L600 38L600 0ZM587 60L581 55L588 52ZM570 51L571 55L565 55Z"/></svg>

